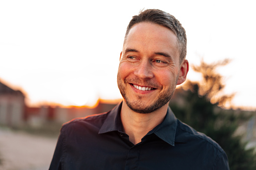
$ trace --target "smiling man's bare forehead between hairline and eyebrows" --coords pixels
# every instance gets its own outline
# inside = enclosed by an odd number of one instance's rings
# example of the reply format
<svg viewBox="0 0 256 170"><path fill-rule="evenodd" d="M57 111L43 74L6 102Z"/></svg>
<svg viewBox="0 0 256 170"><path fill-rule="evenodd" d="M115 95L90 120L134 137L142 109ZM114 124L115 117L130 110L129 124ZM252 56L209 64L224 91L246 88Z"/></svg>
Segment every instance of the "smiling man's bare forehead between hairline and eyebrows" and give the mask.
<svg viewBox="0 0 256 170"><path fill-rule="evenodd" d="M167 52L173 57L179 57L176 35L168 28L152 23L135 24L125 39L123 50L127 48Z"/></svg>

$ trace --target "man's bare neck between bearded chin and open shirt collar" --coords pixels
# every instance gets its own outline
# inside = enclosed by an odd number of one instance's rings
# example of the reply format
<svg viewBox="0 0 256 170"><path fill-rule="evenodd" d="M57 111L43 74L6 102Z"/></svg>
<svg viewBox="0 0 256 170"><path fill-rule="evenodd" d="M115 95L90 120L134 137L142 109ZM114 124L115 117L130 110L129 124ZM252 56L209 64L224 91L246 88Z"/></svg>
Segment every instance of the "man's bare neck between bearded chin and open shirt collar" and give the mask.
<svg viewBox="0 0 256 170"><path fill-rule="evenodd" d="M141 142L142 137L163 121L167 108L168 103L152 113L144 114L134 112L123 101L121 121L125 133L129 135L129 140L133 144Z"/></svg>

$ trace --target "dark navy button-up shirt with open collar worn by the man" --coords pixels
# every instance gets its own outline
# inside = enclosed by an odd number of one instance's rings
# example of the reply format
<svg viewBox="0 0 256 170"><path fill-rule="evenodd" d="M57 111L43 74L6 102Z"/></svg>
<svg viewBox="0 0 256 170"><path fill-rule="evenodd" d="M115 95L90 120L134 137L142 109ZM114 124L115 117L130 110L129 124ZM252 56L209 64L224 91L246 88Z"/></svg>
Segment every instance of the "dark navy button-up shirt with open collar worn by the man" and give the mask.
<svg viewBox="0 0 256 170"><path fill-rule="evenodd" d="M121 107L65 123L49 169L229 169L223 149L179 121L170 108L134 145L123 130Z"/></svg>

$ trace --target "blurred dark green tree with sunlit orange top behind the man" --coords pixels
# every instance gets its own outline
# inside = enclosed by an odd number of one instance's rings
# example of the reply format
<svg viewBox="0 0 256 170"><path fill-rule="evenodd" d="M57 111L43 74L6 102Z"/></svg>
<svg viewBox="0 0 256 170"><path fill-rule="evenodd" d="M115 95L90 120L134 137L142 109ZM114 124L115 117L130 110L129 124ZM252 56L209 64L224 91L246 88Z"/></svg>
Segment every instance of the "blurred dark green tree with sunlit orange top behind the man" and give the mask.
<svg viewBox="0 0 256 170"><path fill-rule="evenodd" d="M255 170L256 155L253 149L245 149L242 136L234 135L239 123L249 116L219 107L233 97L233 94L220 95L224 85L222 77L214 70L223 63L207 65L202 62L200 66L194 66L194 70L202 73L203 82L188 81L184 89L177 90L169 105L178 119L220 144L228 156L230 169ZM175 100L177 98L183 101Z"/></svg>

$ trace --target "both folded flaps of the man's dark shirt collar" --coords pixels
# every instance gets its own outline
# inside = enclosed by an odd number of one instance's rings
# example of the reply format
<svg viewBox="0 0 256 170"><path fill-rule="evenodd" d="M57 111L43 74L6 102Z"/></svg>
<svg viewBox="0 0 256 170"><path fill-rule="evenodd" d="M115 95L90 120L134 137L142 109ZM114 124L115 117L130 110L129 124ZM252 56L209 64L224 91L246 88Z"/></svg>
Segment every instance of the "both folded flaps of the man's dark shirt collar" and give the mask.
<svg viewBox="0 0 256 170"><path fill-rule="evenodd" d="M119 103L114 109L112 109L103 123L99 134L110 131L122 131L122 123L120 119L120 112L122 108L122 102ZM175 134L177 128L177 118L173 111L168 107L167 113L163 121L156 126L153 130L149 131L147 135L154 133L163 141L174 146Z"/></svg>

